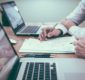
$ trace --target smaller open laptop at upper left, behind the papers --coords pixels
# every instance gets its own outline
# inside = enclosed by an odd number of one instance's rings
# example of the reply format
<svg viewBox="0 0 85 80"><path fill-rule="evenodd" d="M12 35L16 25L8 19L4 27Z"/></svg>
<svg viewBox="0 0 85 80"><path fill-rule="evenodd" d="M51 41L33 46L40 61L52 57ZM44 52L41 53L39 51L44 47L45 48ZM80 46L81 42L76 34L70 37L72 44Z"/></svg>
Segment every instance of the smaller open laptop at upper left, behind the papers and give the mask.
<svg viewBox="0 0 85 80"><path fill-rule="evenodd" d="M7 19L12 27L14 33L19 36L38 36L43 28L42 24L39 23L28 23L26 26L25 22L20 14L20 11L14 1L1 3L1 7L7 16Z"/></svg>

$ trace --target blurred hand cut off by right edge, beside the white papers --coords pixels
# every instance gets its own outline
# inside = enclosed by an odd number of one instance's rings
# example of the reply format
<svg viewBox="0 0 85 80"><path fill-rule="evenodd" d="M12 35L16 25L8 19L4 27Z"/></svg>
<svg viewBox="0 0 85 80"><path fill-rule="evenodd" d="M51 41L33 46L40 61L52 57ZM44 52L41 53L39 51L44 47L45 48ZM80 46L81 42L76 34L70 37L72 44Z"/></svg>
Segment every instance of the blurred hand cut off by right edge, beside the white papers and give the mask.
<svg viewBox="0 0 85 80"><path fill-rule="evenodd" d="M76 55L85 58L85 37L77 38L74 42Z"/></svg>

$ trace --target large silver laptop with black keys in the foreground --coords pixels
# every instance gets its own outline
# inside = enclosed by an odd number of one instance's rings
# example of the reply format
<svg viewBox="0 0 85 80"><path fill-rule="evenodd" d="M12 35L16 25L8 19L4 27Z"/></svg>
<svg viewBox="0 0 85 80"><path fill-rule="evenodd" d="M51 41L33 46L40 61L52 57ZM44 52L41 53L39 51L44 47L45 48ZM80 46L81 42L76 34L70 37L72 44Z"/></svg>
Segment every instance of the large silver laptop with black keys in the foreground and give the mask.
<svg viewBox="0 0 85 80"><path fill-rule="evenodd" d="M85 59L20 58L0 24L0 80L85 80Z"/></svg>

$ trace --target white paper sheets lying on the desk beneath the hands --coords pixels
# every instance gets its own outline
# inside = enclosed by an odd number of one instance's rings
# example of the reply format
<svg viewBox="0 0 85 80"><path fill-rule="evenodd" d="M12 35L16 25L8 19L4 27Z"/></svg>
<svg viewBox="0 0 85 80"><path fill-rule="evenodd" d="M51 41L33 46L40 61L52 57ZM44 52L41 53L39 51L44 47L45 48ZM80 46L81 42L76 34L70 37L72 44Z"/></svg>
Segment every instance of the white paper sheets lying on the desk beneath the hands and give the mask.
<svg viewBox="0 0 85 80"><path fill-rule="evenodd" d="M25 39L19 52L32 53L74 53L75 37L59 37L47 41L38 39Z"/></svg>

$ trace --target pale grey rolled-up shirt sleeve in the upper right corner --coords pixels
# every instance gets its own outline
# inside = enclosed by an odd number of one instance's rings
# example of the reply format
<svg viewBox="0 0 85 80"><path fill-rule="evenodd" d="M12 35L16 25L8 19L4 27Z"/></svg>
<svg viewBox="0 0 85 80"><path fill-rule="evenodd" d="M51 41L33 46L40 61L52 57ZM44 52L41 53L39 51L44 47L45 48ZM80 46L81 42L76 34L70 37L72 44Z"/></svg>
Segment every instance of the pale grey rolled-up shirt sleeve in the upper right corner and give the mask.
<svg viewBox="0 0 85 80"><path fill-rule="evenodd" d="M67 19L72 20L76 25L85 20L85 0L81 0L73 12L67 16Z"/></svg>

